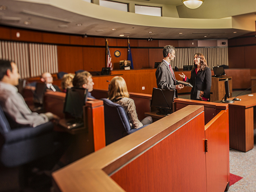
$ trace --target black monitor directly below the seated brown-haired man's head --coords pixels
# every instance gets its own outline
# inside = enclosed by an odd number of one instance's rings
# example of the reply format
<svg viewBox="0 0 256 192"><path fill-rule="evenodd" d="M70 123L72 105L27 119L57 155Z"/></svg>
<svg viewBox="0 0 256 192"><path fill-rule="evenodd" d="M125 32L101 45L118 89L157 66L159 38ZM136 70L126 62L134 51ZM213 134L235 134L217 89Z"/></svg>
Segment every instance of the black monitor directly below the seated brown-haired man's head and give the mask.
<svg viewBox="0 0 256 192"><path fill-rule="evenodd" d="M67 89L63 112L66 118L82 119L83 106L87 99L87 90L83 88Z"/></svg>

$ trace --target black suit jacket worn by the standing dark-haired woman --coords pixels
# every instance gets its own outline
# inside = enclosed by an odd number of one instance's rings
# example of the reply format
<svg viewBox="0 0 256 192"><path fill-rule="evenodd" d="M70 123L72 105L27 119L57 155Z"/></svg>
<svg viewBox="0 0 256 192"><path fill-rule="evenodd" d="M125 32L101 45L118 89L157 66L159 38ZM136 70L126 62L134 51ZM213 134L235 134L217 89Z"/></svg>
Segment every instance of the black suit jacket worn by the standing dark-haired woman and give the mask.
<svg viewBox="0 0 256 192"><path fill-rule="evenodd" d="M190 79L186 79L187 82L190 82L193 85L191 89L190 99L193 100L201 100L197 99L197 91L204 91L204 98L210 99L210 91L211 91L211 69L207 67L204 71L191 71Z"/></svg>

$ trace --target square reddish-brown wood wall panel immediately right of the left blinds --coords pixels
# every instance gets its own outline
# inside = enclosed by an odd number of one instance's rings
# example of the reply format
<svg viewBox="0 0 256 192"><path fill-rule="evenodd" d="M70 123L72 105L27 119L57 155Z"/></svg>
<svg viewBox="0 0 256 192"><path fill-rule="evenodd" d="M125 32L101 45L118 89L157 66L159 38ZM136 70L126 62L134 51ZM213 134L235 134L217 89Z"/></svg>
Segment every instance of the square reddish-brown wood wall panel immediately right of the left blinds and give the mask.
<svg viewBox="0 0 256 192"><path fill-rule="evenodd" d="M83 69L82 47L58 46L57 50L59 72L74 73Z"/></svg>

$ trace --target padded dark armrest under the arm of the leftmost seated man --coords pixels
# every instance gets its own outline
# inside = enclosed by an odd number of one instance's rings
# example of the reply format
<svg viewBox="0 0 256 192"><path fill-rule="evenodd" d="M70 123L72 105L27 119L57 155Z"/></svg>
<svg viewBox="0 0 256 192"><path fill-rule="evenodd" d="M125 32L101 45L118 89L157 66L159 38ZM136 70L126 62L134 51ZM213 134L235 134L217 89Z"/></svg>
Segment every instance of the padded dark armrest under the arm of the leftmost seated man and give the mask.
<svg viewBox="0 0 256 192"><path fill-rule="evenodd" d="M5 143L14 143L17 141L23 141L32 137L37 137L42 134L51 133L53 131L53 123L47 122L37 127L21 127L11 130L7 134L4 134Z"/></svg>

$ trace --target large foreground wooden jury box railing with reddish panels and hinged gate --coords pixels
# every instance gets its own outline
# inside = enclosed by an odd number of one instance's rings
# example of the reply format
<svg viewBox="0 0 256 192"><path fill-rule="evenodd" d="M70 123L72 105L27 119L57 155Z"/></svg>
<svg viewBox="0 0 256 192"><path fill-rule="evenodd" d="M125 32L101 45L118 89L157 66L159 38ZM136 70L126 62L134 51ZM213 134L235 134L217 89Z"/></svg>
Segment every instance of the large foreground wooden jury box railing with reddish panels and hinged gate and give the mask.
<svg viewBox="0 0 256 192"><path fill-rule="evenodd" d="M223 192L229 182L227 110L204 126L204 106L186 106L55 171L55 190Z"/></svg>

